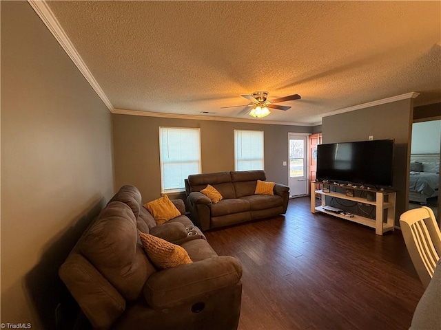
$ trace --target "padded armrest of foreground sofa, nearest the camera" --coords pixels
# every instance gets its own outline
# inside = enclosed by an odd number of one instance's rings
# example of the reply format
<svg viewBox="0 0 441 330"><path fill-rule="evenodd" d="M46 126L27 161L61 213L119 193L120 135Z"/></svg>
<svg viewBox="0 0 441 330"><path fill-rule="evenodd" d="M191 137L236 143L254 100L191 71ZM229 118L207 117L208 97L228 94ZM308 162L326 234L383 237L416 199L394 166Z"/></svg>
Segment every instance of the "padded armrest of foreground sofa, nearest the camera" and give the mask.
<svg viewBox="0 0 441 330"><path fill-rule="evenodd" d="M154 309L172 308L236 285L241 277L242 266L236 258L214 256L152 274L144 296Z"/></svg>

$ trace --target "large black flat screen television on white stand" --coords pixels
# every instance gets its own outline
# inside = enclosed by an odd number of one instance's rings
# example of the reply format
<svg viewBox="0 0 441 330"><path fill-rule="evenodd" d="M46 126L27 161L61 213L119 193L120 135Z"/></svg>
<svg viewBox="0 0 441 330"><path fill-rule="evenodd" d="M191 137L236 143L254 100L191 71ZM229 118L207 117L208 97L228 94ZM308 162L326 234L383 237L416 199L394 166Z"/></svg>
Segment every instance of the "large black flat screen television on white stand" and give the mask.
<svg viewBox="0 0 441 330"><path fill-rule="evenodd" d="M319 144L318 180L392 186L393 140Z"/></svg>

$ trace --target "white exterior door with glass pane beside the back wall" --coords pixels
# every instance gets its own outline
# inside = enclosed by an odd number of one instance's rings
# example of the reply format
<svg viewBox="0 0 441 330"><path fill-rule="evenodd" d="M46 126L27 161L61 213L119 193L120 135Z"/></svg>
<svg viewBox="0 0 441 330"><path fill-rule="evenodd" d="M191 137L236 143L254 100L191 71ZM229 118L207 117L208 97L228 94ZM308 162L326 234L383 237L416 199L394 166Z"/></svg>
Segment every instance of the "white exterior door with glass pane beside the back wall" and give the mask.
<svg viewBox="0 0 441 330"><path fill-rule="evenodd" d="M289 133L289 195L307 195L307 136Z"/></svg>

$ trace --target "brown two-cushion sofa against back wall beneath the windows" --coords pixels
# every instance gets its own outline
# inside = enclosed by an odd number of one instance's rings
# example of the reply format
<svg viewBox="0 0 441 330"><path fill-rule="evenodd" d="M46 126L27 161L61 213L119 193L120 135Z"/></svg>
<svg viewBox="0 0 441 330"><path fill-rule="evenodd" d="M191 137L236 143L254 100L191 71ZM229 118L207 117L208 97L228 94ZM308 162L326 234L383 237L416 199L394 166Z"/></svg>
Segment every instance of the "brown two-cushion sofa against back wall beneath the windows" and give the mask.
<svg viewBox="0 0 441 330"><path fill-rule="evenodd" d="M189 175L185 179L185 206L192 220L202 230L263 219L287 211L289 187L274 185L274 196L255 195L257 180L265 181L264 170L245 170ZM200 191L213 186L223 199L212 203Z"/></svg>

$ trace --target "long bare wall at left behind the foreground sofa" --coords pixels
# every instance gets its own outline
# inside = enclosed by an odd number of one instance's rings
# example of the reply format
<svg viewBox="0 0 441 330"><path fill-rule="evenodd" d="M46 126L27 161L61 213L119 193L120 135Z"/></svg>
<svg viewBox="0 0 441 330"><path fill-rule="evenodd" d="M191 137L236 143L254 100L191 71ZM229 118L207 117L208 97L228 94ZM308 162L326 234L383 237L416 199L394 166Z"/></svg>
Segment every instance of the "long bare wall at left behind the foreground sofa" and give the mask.
<svg viewBox="0 0 441 330"><path fill-rule="evenodd" d="M26 1L1 1L1 322L54 329L58 267L114 192L110 111Z"/></svg>

